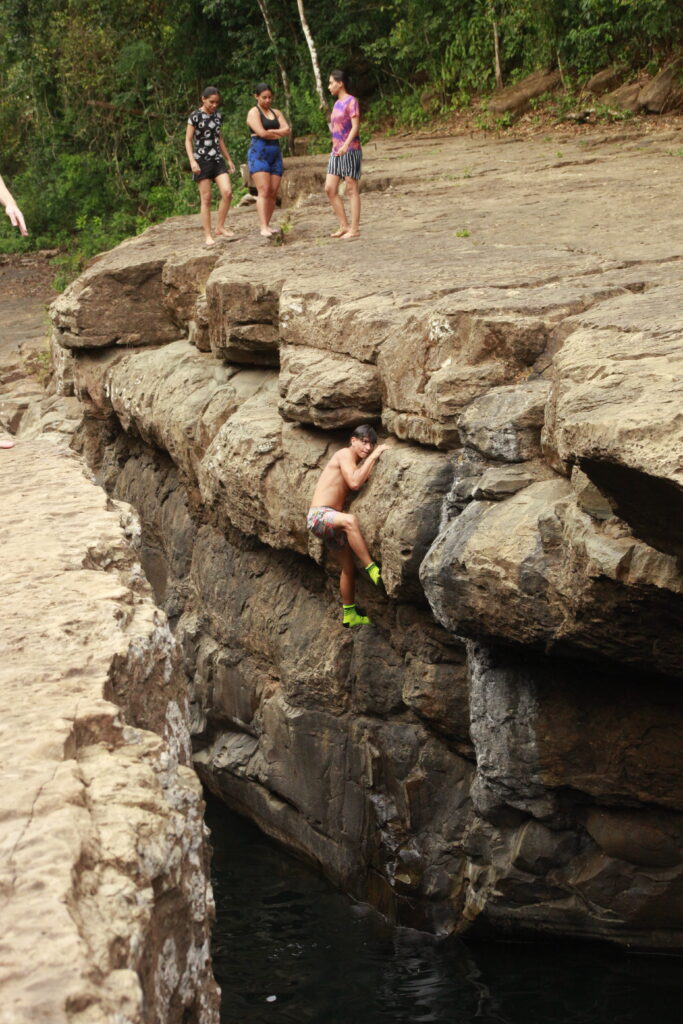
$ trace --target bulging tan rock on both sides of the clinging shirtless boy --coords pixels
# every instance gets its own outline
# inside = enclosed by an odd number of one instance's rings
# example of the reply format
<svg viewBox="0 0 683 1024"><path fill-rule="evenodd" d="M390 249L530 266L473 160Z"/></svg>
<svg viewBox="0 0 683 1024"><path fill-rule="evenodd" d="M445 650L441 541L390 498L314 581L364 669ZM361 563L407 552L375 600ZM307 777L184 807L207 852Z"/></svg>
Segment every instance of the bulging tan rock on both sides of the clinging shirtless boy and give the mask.
<svg viewBox="0 0 683 1024"><path fill-rule="evenodd" d="M306 528L306 513L317 477L341 444L283 424L269 399L263 390L218 431L199 467L202 497L243 532L273 548L321 559L321 547ZM395 444L349 503L382 564L389 595L421 599L418 569L436 535L451 473L445 456Z"/></svg>

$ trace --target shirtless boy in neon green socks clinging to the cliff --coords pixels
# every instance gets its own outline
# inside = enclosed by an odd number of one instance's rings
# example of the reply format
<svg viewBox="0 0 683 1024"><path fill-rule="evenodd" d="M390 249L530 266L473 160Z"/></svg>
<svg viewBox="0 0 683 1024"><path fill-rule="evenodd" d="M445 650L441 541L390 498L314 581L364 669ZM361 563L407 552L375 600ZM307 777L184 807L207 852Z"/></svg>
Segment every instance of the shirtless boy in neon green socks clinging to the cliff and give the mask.
<svg viewBox="0 0 683 1024"><path fill-rule="evenodd" d="M343 623L348 627L370 623L370 618L358 614L355 607L353 554L360 559L360 564L376 586L379 586L381 577L379 565L370 557L358 520L351 513L343 511L344 503L349 490L360 489L382 452L386 452L388 447L388 444L377 443L377 434L372 427L367 424L356 427L351 434L349 446L337 452L323 470L308 510L308 529L339 555Z"/></svg>

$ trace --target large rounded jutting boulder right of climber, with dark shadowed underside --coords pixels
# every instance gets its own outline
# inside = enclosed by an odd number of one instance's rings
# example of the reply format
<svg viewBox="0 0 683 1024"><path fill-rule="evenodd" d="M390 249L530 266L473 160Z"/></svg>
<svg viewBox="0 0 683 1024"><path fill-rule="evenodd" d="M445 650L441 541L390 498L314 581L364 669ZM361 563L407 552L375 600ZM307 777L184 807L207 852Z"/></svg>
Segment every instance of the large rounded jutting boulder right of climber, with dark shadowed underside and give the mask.
<svg viewBox="0 0 683 1024"><path fill-rule="evenodd" d="M565 480L472 502L439 534L420 578L437 621L460 636L683 673L677 559L581 512Z"/></svg>

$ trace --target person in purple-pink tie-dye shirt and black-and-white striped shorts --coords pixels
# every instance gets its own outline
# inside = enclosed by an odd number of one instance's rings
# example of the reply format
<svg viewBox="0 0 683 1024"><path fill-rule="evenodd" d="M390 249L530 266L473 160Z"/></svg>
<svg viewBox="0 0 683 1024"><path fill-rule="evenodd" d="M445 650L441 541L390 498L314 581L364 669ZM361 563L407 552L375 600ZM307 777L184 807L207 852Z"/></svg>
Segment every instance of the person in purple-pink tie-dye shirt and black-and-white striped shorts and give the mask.
<svg viewBox="0 0 683 1024"><path fill-rule="evenodd" d="M329 89L335 97L335 105L330 118L332 132L332 154L328 164L328 176L325 180L325 190L335 212L339 227L332 232L331 238L343 239L349 242L360 237L360 167L362 165L362 150L358 131L360 129L360 112L358 100L347 88L345 72L336 68L330 73ZM351 223L349 224L344 209L344 202L339 195L341 179L346 182L346 194L351 208Z"/></svg>

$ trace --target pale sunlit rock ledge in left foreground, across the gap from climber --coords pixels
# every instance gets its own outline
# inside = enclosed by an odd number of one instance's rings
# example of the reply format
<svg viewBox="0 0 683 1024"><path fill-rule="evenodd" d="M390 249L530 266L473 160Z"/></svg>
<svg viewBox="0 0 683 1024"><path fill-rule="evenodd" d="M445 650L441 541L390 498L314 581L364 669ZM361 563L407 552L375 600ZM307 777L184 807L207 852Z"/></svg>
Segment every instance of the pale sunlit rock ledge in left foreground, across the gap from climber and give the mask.
<svg viewBox="0 0 683 1024"><path fill-rule="evenodd" d="M211 1024L186 687L137 518L44 438L0 475L0 1019Z"/></svg>

